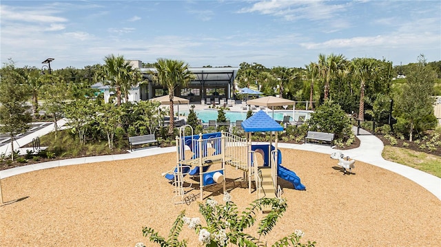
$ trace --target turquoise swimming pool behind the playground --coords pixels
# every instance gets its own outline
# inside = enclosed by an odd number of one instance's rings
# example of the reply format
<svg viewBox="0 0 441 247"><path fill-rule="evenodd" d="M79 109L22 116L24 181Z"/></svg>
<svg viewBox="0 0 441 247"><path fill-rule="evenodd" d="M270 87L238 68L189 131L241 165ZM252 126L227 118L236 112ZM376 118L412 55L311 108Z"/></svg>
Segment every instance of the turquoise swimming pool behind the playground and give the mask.
<svg viewBox="0 0 441 247"><path fill-rule="evenodd" d="M272 117L272 111L268 110L265 111L270 117ZM300 116L304 116L304 119L309 119L311 117L312 111L294 111L294 120L298 120ZM189 111L183 111L183 114L185 116L188 116ZM199 119L202 120L202 122L208 122L209 120L216 120L218 118L218 109L203 109L203 110L196 110L196 115ZM292 111L274 111L274 120L276 121L283 121L283 116L291 116L291 121L293 121L292 118ZM225 111L225 117L230 122L236 122L237 120L245 120L247 119L247 112L245 111Z"/></svg>

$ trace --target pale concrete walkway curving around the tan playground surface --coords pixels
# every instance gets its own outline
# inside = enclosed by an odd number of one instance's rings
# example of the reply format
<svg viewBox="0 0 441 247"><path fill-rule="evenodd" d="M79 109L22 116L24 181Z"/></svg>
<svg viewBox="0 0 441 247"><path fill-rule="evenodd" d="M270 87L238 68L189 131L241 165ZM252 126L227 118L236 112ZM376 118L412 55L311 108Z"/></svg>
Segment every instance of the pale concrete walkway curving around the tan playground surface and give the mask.
<svg viewBox="0 0 441 247"><path fill-rule="evenodd" d="M62 123L62 122L61 122ZM53 129L53 126L52 126ZM48 131L45 129L45 131ZM39 131L40 132L40 131ZM43 130L41 130L43 133ZM38 134L36 133L38 136ZM31 138L31 137L30 137ZM350 150L342 150L341 152L345 156L349 156L353 160L358 160L368 164L372 164L376 167L381 167L394 173L398 173L406 178L409 178L413 182L420 184L429 192L433 193L439 200L441 200L441 178L430 175L429 173L424 173L423 171L413 169L411 167L404 166L395 162L390 162L382 158L382 150L384 148L383 143L376 136L358 136L360 139L360 147ZM32 142L32 139L30 140ZM332 149L329 146L321 144L289 144L289 143L279 143L278 147L287 149L297 149L305 151L313 151L317 153L327 153L331 155L338 151L337 149ZM141 149L139 151L134 151L132 153L124 153L119 155L103 155L85 158L74 158L70 160L56 160L52 162L43 162L39 164L30 164L23 167L16 167L13 169L8 169L0 171L0 178L8 178L13 175L18 175L21 173L27 173L30 171L37 171L40 169L48 169L52 167L62 167L72 164L84 164L90 162L103 162L110 160L124 160L130 158L141 158L149 155L157 155L160 153L170 153L176 151L176 147L167 148L151 148L151 149ZM0 151L1 152L1 151Z"/></svg>

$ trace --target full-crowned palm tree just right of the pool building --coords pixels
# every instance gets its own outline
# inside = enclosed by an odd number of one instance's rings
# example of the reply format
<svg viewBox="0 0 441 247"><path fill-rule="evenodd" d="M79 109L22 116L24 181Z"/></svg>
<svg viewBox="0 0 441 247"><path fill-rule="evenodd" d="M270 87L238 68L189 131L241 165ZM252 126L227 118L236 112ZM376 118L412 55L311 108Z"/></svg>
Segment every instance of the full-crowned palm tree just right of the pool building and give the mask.
<svg viewBox="0 0 441 247"><path fill-rule="evenodd" d="M318 54L318 69L319 74L325 80L325 97L326 100L329 97L329 83L334 78L338 69L341 69L341 63L345 60L345 56L342 54L335 55L330 54L328 57L325 54Z"/></svg>

